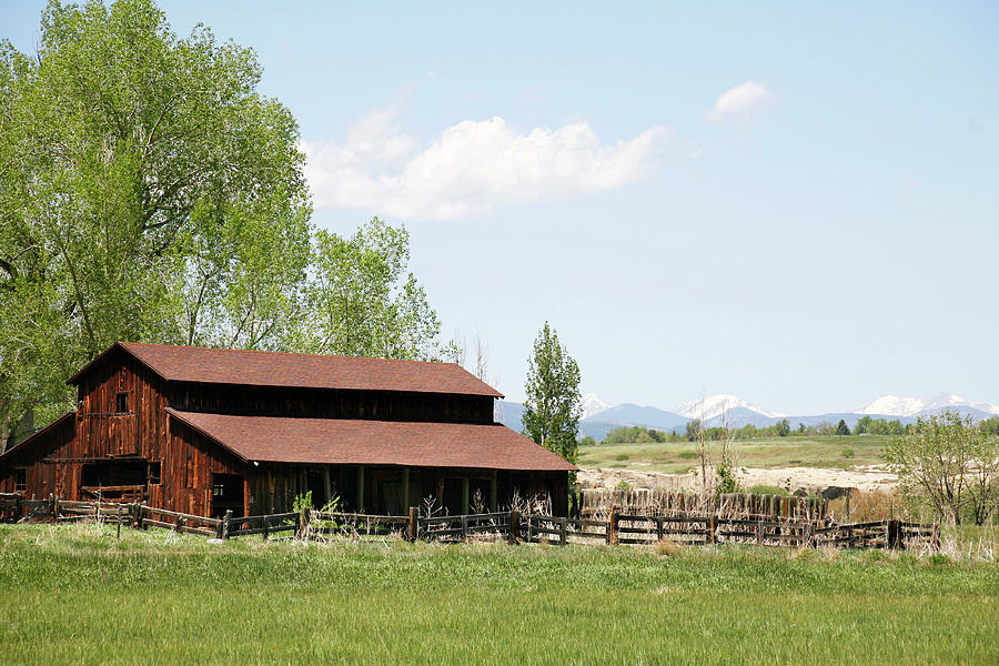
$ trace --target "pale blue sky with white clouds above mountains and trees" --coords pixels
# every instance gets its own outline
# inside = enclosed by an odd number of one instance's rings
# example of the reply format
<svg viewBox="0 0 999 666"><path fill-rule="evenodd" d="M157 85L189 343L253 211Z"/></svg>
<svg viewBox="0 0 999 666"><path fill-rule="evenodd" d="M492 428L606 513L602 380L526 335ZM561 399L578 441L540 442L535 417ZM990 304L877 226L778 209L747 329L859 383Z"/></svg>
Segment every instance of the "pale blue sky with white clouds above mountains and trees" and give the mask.
<svg viewBox="0 0 999 666"><path fill-rule="evenodd" d="M161 7L256 51L313 222L405 225L511 400L547 321L612 404L999 404L999 4Z"/></svg>

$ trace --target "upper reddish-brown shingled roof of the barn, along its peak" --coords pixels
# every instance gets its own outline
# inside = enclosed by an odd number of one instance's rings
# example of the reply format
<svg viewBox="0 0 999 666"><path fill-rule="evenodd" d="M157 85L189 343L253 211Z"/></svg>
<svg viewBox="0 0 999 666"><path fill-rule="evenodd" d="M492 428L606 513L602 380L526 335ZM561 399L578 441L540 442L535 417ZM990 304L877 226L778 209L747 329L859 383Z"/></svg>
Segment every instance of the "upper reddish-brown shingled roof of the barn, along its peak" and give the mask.
<svg viewBox="0 0 999 666"><path fill-rule="evenodd" d="M503 397L502 393L455 363L215 350L138 342L114 343L73 375L69 383L78 383L92 366L118 349L124 350L171 382Z"/></svg>

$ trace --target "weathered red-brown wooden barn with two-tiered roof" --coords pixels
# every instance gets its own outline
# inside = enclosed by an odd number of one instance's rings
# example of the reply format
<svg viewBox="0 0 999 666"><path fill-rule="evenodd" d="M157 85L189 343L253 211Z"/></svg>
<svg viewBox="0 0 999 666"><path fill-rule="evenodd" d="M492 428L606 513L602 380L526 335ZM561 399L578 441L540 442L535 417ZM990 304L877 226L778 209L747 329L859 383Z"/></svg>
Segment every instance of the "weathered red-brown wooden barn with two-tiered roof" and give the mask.
<svg viewBox="0 0 999 666"><path fill-rule="evenodd" d="M259 515L294 497L403 515L551 496L576 467L494 420L453 363L119 342L69 383L77 408L0 456L0 492Z"/></svg>

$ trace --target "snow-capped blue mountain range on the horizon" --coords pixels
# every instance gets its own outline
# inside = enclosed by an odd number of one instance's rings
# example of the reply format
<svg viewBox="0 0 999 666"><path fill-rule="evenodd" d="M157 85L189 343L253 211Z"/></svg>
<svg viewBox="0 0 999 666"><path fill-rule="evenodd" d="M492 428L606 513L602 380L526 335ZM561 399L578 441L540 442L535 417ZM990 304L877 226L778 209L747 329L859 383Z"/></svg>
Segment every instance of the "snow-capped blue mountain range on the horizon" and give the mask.
<svg viewBox="0 0 999 666"><path fill-rule="evenodd" d="M579 421L579 436L603 440L616 427L640 425L667 432L683 432L694 418L703 420L709 427L720 425L723 420L731 427L753 424L757 427L774 425L787 418L791 427L799 423L806 426L821 423L838 423L841 418L851 428L864 416L872 418L898 418L902 423L914 423L918 417L939 414L952 410L976 420L999 415L999 406L986 402L972 402L959 395L940 394L928 398L885 395L851 412L829 412L825 414L786 415L753 405L740 397L727 393L710 395L677 405L673 410L624 403L612 406L596 394L583 396L583 418ZM500 401L498 420L519 432L523 430L524 405Z"/></svg>

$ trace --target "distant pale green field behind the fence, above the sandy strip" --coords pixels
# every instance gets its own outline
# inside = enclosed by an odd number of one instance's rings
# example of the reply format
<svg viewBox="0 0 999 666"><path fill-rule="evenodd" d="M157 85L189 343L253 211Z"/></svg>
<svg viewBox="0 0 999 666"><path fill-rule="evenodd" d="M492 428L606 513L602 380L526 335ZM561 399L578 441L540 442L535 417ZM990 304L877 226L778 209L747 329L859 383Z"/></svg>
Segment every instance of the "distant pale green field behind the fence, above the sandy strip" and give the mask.
<svg viewBox="0 0 999 666"><path fill-rule="evenodd" d="M884 463L888 444L884 435L774 437L737 442L741 467L827 467L849 470ZM635 467L668 474L685 474L697 465L697 444L597 444L579 447L582 467Z"/></svg>

